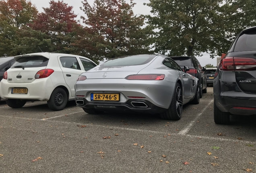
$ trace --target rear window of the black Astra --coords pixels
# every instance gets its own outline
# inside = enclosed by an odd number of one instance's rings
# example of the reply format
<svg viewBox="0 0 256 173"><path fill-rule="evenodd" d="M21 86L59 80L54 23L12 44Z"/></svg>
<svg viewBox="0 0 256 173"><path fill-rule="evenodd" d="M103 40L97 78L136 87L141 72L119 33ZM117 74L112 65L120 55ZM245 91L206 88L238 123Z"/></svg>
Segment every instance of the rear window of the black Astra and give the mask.
<svg viewBox="0 0 256 173"><path fill-rule="evenodd" d="M241 34L235 44L234 52L256 50L256 31Z"/></svg>

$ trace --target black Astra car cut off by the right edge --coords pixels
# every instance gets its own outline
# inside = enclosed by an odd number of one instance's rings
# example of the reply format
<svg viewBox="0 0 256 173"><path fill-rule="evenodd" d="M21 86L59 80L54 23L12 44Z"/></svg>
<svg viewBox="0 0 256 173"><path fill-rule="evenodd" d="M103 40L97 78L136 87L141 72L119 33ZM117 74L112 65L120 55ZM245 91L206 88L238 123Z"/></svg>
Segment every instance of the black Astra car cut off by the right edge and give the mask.
<svg viewBox="0 0 256 173"><path fill-rule="evenodd" d="M214 121L256 115L256 27L240 32L221 59L213 81Z"/></svg>

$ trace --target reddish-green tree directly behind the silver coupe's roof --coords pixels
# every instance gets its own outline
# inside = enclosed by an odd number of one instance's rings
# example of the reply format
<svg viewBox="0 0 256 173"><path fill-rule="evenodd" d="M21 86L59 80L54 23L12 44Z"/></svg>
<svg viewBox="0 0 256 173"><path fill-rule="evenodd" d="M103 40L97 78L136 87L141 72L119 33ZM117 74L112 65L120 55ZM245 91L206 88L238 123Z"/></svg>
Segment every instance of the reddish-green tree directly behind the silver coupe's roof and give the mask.
<svg viewBox="0 0 256 173"><path fill-rule="evenodd" d="M98 58L149 53L148 28L142 28L145 18L134 15L133 6L133 0L95 0L93 6L84 0L82 19L91 36L85 39L92 45L87 50Z"/></svg>

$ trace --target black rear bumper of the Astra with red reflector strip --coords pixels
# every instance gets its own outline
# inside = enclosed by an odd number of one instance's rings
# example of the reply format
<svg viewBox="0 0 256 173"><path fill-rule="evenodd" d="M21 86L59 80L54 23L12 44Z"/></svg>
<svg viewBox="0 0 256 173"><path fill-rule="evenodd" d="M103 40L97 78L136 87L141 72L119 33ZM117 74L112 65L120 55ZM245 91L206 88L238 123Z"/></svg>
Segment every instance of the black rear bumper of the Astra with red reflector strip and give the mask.
<svg viewBox="0 0 256 173"><path fill-rule="evenodd" d="M234 72L219 71L213 82L213 93L220 111L235 115L256 115L256 95L239 89Z"/></svg>

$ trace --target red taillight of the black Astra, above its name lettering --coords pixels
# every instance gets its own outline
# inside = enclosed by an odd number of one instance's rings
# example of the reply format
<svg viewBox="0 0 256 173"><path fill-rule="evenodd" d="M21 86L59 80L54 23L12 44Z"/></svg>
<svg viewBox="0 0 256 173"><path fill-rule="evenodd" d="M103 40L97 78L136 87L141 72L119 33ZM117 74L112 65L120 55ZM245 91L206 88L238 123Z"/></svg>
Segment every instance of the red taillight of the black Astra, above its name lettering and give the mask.
<svg viewBox="0 0 256 173"><path fill-rule="evenodd" d="M256 68L256 59L243 57L226 57L219 63L219 69L223 71L245 71Z"/></svg>

